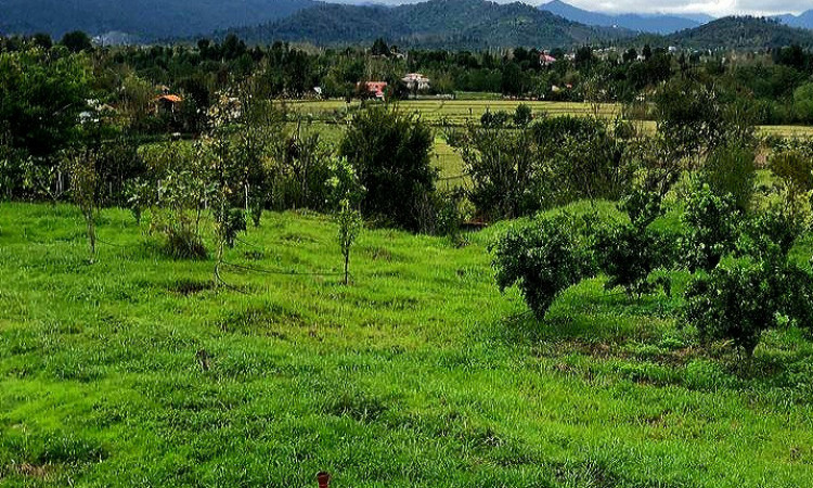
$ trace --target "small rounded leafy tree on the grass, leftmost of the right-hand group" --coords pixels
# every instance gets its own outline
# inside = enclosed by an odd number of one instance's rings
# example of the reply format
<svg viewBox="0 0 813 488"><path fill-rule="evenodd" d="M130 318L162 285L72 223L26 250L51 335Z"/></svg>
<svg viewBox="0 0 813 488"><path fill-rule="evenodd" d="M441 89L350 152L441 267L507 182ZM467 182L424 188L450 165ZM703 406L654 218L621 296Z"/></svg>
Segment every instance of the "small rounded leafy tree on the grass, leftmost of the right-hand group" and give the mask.
<svg viewBox="0 0 813 488"><path fill-rule="evenodd" d="M554 299L590 273L590 257L567 215L514 224L491 247L501 291L516 285L539 319Z"/></svg>

